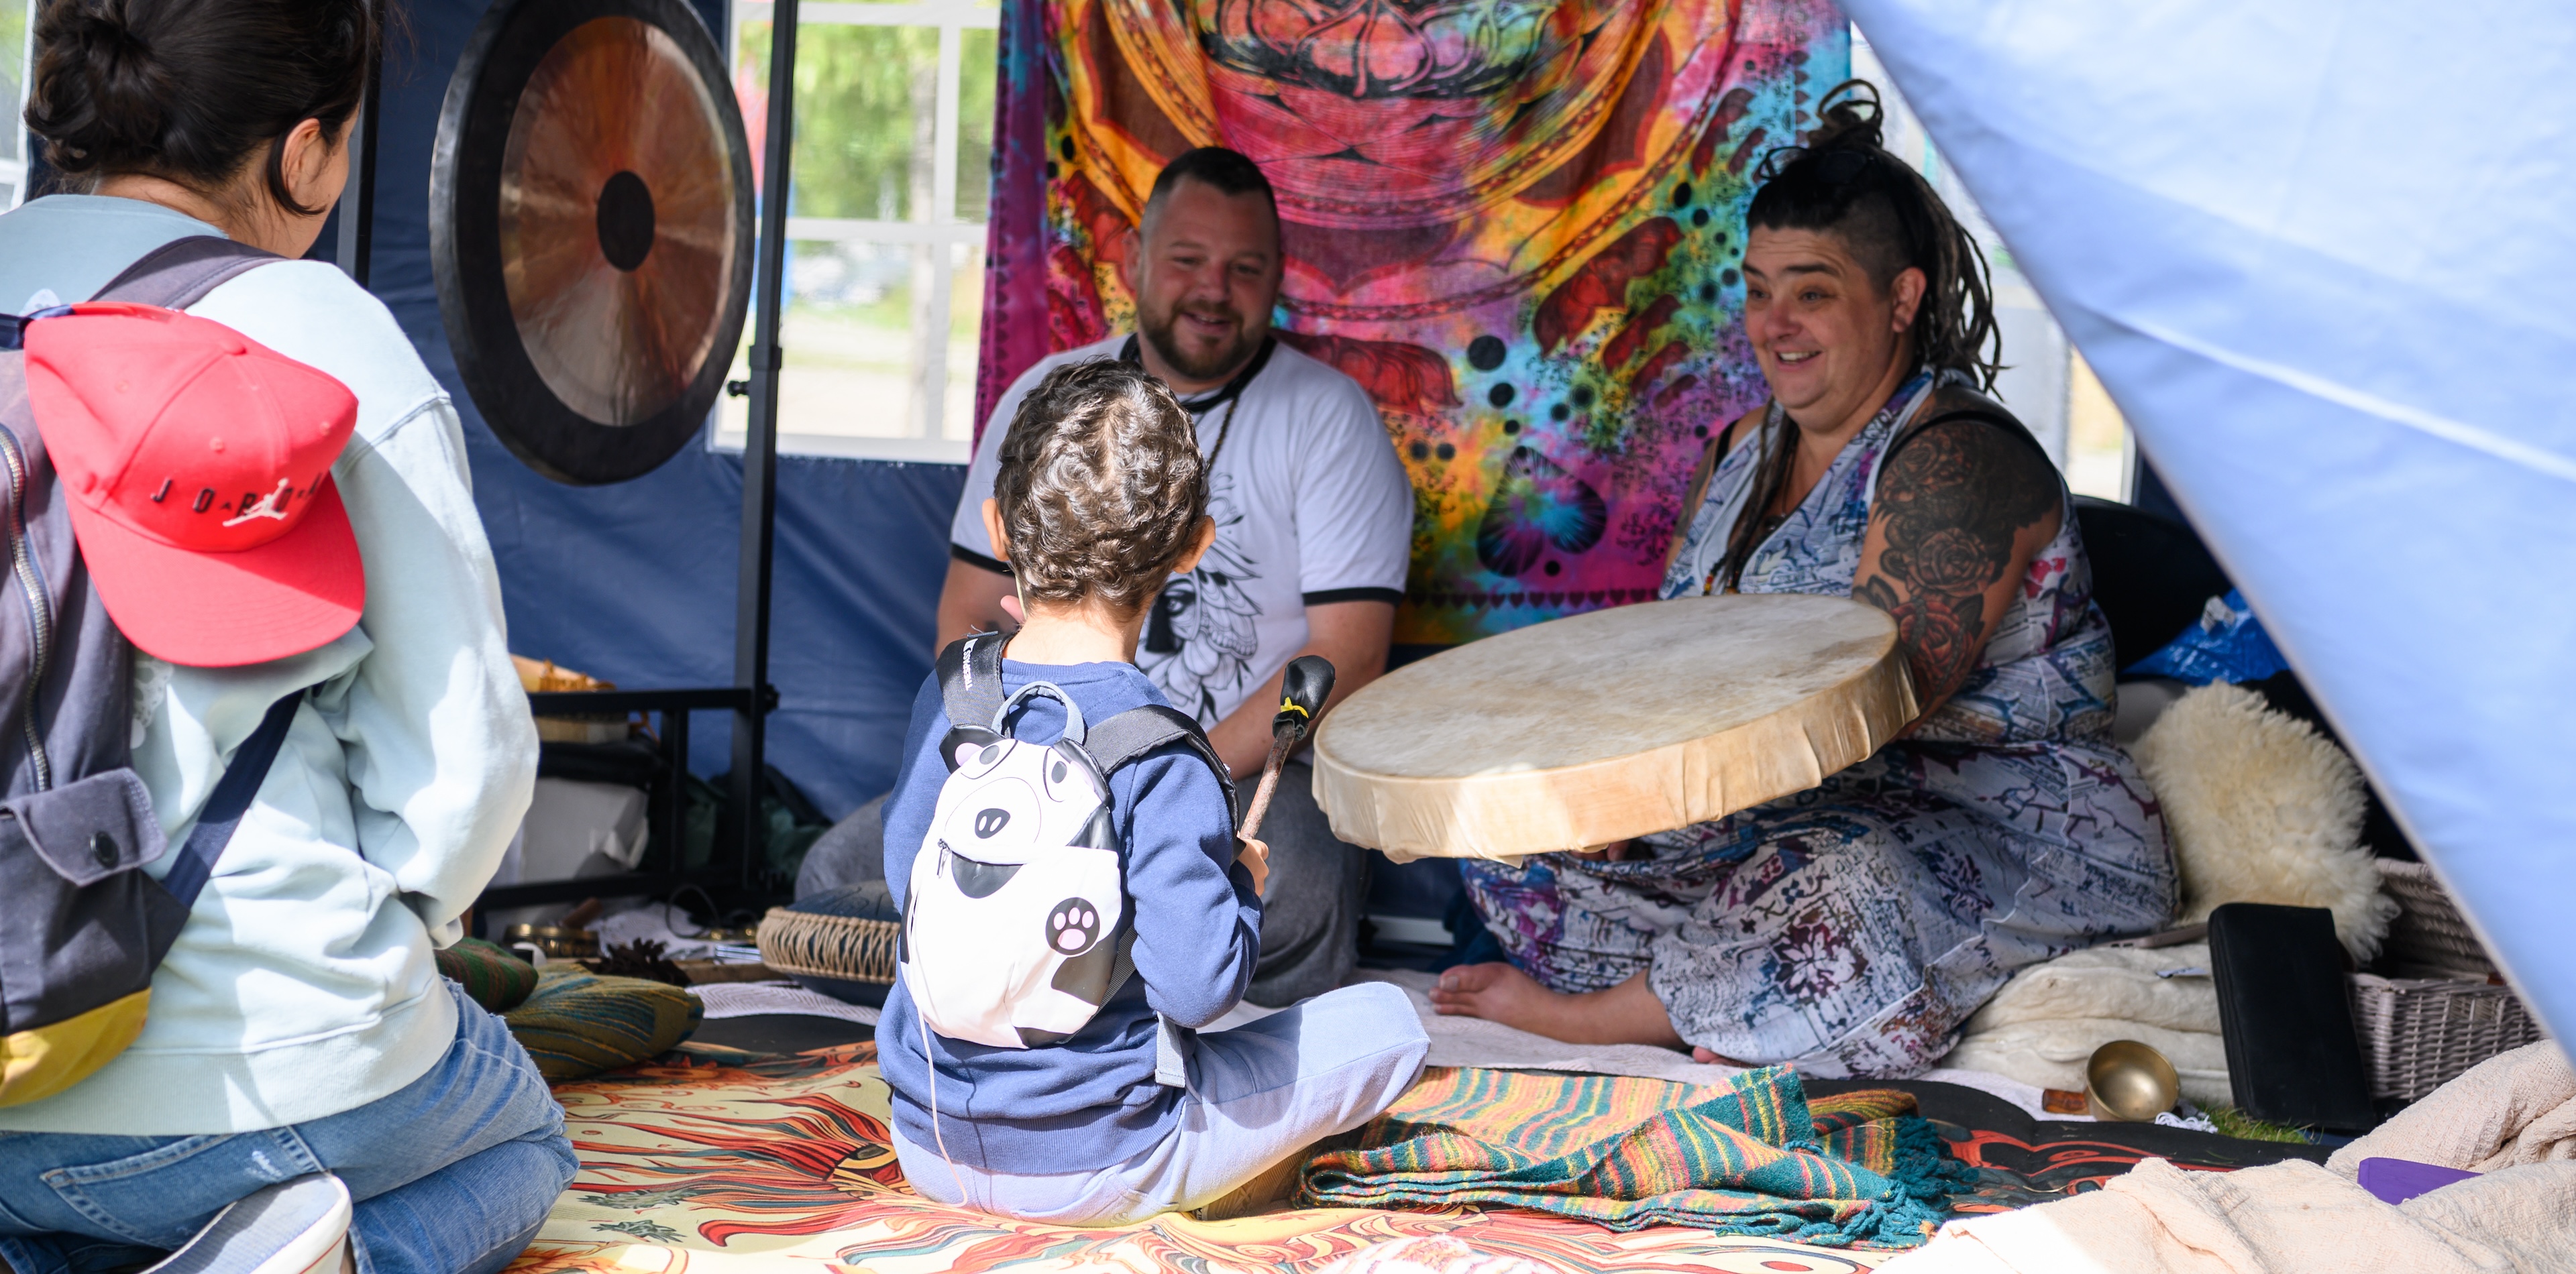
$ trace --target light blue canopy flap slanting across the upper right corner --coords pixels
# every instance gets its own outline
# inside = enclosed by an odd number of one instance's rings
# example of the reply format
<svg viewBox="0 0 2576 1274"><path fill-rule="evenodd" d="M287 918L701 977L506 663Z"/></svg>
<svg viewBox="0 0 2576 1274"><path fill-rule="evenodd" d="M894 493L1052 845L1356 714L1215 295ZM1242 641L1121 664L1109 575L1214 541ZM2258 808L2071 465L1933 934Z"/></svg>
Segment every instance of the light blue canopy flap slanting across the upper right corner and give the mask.
<svg viewBox="0 0 2576 1274"><path fill-rule="evenodd" d="M1844 8L2576 1037L2576 5Z"/></svg>

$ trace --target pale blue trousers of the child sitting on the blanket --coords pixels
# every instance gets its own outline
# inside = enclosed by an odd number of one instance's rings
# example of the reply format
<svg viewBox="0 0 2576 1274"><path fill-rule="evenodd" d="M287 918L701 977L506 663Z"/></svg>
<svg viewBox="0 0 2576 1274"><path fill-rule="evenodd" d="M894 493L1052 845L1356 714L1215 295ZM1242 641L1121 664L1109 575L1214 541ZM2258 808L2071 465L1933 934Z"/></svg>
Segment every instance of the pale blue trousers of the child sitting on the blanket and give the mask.
<svg viewBox="0 0 2576 1274"><path fill-rule="evenodd" d="M1229 1032L1200 1035L1180 1120L1151 1150L1100 1171L994 1174L894 1138L927 1199L1056 1225L1126 1225L1203 1207L1262 1168L1378 1117L1430 1053L1404 991L1345 986Z"/></svg>

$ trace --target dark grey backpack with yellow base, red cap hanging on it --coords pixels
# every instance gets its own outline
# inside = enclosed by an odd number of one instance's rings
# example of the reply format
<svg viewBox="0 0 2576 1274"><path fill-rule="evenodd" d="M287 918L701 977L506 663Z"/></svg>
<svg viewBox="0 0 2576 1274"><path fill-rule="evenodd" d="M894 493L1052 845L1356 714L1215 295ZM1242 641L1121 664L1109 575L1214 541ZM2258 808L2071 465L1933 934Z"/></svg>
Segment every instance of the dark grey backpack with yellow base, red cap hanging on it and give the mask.
<svg viewBox="0 0 2576 1274"><path fill-rule="evenodd" d="M178 239L116 275L100 301L185 309L278 260L229 239ZM23 319L0 317L0 1107L80 1084L144 1029L152 970L188 924L216 854L276 759L301 692L260 728L167 849L131 767L134 646L108 620L72 543L26 394Z"/></svg>

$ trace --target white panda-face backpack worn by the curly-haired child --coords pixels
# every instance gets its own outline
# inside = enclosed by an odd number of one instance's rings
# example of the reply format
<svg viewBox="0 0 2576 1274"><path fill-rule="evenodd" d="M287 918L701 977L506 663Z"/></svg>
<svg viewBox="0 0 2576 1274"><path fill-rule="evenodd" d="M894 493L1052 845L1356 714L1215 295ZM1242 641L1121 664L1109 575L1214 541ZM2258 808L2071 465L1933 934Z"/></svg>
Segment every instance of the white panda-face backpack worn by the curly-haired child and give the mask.
<svg viewBox="0 0 2576 1274"><path fill-rule="evenodd" d="M1020 703L1064 705L1064 736L1012 736ZM904 891L902 975L943 1037L1038 1048L1079 1032L1136 970L1108 780L1164 744L1190 744L1234 785L1198 721L1131 708L1084 726L1051 682L1002 695L1002 636L940 651L948 782Z"/></svg>

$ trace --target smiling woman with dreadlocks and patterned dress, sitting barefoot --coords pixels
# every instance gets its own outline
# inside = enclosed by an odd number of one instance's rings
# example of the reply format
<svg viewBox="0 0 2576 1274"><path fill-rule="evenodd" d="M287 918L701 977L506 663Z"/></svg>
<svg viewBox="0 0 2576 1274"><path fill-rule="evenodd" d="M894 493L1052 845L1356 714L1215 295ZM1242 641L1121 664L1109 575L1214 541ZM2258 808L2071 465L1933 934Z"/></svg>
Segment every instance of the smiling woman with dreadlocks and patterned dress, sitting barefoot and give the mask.
<svg viewBox="0 0 2576 1274"><path fill-rule="evenodd" d="M2156 800L2110 739L2110 628L2066 486L1978 394L1984 255L1880 149L1875 100L1824 118L1770 157L1747 214L1744 327L1772 402L1710 443L1662 595L1870 602L1922 715L1783 800L1466 862L1512 963L1445 973L1445 1014L1906 1076L2012 970L2174 911Z"/></svg>

